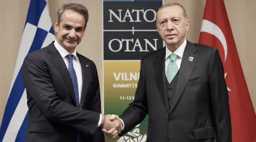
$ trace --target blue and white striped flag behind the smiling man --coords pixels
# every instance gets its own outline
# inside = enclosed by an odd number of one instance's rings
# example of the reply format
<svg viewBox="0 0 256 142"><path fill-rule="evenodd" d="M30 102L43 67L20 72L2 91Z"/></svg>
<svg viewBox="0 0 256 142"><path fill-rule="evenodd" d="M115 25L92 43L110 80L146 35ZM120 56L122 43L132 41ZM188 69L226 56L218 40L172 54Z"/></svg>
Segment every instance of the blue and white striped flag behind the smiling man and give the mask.
<svg viewBox="0 0 256 142"><path fill-rule="evenodd" d="M31 0L0 129L0 141L25 142L28 107L22 82L24 58L55 40L47 0Z"/></svg>

